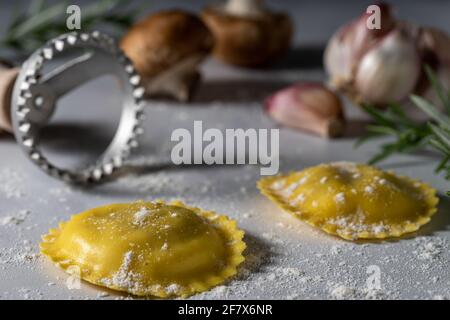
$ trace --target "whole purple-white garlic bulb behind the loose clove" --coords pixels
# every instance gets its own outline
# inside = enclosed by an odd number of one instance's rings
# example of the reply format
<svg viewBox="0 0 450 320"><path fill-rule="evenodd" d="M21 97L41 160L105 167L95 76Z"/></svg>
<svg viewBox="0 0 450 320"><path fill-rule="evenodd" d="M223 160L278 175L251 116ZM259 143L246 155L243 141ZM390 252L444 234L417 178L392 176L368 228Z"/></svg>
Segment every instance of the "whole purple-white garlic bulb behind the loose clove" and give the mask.
<svg viewBox="0 0 450 320"><path fill-rule="evenodd" d="M384 106L429 91L425 64L447 77L443 70L450 66L450 37L437 29L395 20L387 5L380 9L380 29L369 29L369 15L364 13L330 39L324 63L331 86L357 103Z"/></svg>

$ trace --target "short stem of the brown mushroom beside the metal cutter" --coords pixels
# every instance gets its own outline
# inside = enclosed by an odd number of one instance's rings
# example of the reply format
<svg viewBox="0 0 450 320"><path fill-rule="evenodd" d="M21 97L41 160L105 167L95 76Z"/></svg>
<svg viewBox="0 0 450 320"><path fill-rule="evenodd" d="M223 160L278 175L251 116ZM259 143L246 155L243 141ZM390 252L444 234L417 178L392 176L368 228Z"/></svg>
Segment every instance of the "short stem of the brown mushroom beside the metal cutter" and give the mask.
<svg viewBox="0 0 450 320"><path fill-rule="evenodd" d="M198 65L205 58L203 54L188 57L165 72L147 80L147 97L169 96L178 101L190 100L200 81Z"/></svg>

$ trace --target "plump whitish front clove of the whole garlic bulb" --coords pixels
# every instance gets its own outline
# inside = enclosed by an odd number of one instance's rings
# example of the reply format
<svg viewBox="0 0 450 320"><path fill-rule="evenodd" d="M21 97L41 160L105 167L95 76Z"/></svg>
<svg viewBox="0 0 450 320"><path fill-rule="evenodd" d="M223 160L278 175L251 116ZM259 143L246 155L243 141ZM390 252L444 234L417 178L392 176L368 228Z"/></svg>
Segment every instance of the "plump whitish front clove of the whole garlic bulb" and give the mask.
<svg viewBox="0 0 450 320"><path fill-rule="evenodd" d="M406 99L416 87L421 60L406 29L392 31L361 59L355 76L356 99L383 105Z"/></svg>

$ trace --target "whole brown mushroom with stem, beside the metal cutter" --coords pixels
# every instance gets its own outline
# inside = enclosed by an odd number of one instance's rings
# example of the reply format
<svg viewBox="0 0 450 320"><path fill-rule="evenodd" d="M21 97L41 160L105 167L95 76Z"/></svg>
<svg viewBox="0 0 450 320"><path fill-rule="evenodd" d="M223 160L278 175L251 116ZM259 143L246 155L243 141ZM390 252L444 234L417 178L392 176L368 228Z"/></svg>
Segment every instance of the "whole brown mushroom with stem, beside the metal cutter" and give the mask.
<svg viewBox="0 0 450 320"><path fill-rule="evenodd" d="M200 79L198 66L212 51L213 40L200 18L168 10L136 23L121 47L141 75L147 97L186 101Z"/></svg>

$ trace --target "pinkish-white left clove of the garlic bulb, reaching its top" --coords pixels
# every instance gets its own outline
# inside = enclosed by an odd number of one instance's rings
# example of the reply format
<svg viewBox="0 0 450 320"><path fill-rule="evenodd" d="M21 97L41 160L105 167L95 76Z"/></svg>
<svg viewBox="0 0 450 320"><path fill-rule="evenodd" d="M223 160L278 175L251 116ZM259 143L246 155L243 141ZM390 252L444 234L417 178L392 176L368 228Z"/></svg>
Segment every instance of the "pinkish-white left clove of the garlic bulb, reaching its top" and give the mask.
<svg viewBox="0 0 450 320"><path fill-rule="evenodd" d="M331 85L341 88L352 82L355 69L361 58L395 26L391 8L379 4L381 28L368 29L368 13L341 27L325 48L325 69L331 78Z"/></svg>

